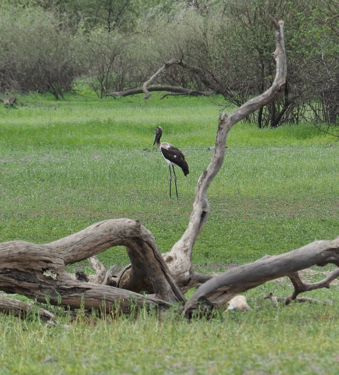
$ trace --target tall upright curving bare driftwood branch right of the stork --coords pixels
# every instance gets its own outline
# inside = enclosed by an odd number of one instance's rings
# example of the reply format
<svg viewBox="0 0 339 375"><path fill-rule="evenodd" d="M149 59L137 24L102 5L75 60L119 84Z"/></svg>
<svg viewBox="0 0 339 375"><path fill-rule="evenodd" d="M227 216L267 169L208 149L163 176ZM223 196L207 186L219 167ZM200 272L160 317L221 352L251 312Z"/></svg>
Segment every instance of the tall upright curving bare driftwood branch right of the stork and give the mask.
<svg viewBox="0 0 339 375"><path fill-rule="evenodd" d="M279 21L279 23L277 23L273 18L272 22L275 26L276 36L276 50L273 53L273 58L276 61L275 80L270 89L257 98L250 99L229 115L223 113L220 116L216 134L214 156L210 165L204 170L196 184L193 211L190 216L188 227L181 239L175 243L171 251L165 255L166 263L168 264L174 279L181 288L194 286L194 283L191 282L190 271L193 245L201 232L201 229L207 222L208 214L210 212L210 206L207 200L207 189L223 163L228 131L234 124L264 105L272 102L281 94L281 92L284 91L286 81L286 55L283 31L284 22Z"/></svg>

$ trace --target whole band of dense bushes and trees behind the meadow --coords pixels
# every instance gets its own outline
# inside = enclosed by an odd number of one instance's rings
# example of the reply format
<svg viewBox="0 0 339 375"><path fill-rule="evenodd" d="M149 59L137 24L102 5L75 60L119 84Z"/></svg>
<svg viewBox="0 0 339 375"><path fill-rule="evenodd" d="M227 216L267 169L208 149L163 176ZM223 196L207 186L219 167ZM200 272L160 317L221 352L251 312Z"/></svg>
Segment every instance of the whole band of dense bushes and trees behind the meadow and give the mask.
<svg viewBox="0 0 339 375"><path fill-rule="evenodd" d="M207 85L241 105L274 78L273 15L286 24L287 86L250 120L260 127L338 121L335 1L0 0L0 7L1 92L62 98L81 79L102 98L141 87L176 57L185 68L172 66L157 83Z"/></svg>

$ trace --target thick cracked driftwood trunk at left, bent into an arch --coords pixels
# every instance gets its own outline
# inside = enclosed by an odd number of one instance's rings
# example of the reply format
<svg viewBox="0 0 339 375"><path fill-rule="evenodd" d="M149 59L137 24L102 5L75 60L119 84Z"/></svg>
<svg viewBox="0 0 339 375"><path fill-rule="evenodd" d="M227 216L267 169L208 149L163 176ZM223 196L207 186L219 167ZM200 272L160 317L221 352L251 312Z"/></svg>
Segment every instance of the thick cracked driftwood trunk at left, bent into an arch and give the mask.
<svg viewBox="0 0 339 375"><path fill-rule="evenodd" d="M130 290L73 280L66 272L66 265L118 245L129 249L132 277L126 284ZM97 308L109 312L118 306L119 311L129 313L131 300L139 307L160 309L185 301L153 236L135 220L106 220L46 245L4 242L0 244L0 264L0 290L23 294L38 302L46 302L48 295L52 305L71 309ZM56 277L46 275L46 270ZM145 280L144 284L156 298L133 293L137 289L133 285L134 275L138 275L139 281Z"/></svg>

